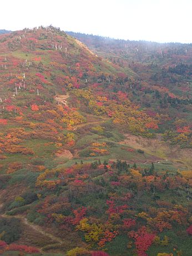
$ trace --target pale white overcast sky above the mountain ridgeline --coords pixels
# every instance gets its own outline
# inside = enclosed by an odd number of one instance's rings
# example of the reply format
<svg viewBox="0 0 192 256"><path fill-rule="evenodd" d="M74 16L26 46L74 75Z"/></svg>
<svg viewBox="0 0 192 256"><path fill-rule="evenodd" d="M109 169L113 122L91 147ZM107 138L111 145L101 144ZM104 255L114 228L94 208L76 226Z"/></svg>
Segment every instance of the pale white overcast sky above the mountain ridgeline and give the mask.
<svg viewBox="0 0 192 256"><path fill-rule="evenodd" d="M52 24L129 40L192 43L192 0L1 0L0 29Z"/></svg>

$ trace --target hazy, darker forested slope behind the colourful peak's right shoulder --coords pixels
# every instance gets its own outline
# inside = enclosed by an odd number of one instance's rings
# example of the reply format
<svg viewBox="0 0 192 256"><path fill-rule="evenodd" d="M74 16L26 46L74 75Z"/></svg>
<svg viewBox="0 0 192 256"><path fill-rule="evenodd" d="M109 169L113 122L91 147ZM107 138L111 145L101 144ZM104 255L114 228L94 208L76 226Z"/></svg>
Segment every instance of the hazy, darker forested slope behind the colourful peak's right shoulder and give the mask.
<svg viewBox="0 0 192 256"><path fill-rule="evenodd" d="M177 97L191 97L192 44L125 41L67 32L92 51L122 67L129 66L149 85L166 87ZM147 74L148 73L148 74Z"/></svg>

